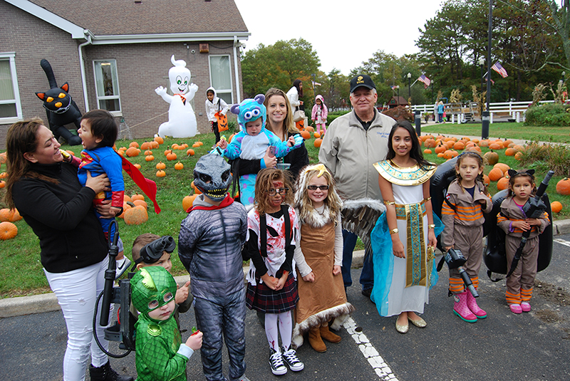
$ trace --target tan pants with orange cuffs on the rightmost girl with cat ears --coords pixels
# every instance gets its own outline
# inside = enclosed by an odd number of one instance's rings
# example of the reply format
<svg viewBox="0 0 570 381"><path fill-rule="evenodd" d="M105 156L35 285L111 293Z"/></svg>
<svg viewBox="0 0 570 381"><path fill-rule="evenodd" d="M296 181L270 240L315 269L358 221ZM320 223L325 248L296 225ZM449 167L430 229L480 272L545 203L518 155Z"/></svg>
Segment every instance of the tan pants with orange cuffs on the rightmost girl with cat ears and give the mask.
<svg viewBox="0 0 570 381"><path fill-rule="evenodd" d="M504 245L507 252L507 271L511 268L512 259L521 243L519 237L507 235ZM539 237L530 238L522 251L517 268L507 278L506 298L509 304L528 302L532 297L534 278L537 276L537 259L539 256Z"/></svg>

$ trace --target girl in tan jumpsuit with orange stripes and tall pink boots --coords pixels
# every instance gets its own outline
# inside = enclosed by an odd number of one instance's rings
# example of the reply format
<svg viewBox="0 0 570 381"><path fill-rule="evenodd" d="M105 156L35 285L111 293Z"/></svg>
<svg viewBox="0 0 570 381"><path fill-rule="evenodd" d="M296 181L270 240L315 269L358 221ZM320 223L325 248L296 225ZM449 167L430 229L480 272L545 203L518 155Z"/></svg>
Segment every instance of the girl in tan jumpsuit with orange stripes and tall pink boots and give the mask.
<svg viewBox="0 0 570 381"><path fill-rule="evenodd" d="M457 179L447 188L442 204L441 235L445 251L454 248L462 252L467 262L463 265L473 286L479 286L479 269L483 259L483 213L491 212L493 203L483 183L483 160L477 152L463 152L455 164ZM457 268L450 268L450 293L455 304L453 313L462 320L475 323L487 318L487 313L477 306L472 294L465 290L465 283Z"/></svg>

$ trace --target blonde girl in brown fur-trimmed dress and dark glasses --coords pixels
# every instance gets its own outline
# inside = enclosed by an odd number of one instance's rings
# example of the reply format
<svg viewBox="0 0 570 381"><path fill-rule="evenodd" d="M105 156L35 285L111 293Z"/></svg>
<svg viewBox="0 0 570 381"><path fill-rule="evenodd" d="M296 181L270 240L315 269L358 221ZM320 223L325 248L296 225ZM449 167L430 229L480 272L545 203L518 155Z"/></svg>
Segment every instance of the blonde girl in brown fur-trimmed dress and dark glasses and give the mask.
<svg viewBox="0 0 570 381"><path fill-rule="evenodd" d="M336 194L334 179L323 164L301 170L295 194L295 207L301 228L294 259L298 276L299 303L294 344L303 344L309 332L309 343L317 352L325 352L327 340L338 343L341 337L328 330L338 330L354 310L346 301L341 266L343 235L341 199Z"/></svg>

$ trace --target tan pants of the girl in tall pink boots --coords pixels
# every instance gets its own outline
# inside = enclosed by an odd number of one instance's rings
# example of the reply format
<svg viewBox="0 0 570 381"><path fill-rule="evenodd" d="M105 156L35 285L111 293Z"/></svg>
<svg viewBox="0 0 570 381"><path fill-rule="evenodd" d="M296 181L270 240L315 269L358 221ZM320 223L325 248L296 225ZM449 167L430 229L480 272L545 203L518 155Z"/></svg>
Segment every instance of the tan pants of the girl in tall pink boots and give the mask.
<svg viewBox="0 0 570 381"><path fill-rule="evenodd" d="M453 231L454 248L459 249L467 262L463 265L465 272L471 278L473 286L479 286L479 269L483 259L483 226L466 227L455 225ZM457 268L450 270L450 291L462 293L465 291L463 279Z"/></svg>

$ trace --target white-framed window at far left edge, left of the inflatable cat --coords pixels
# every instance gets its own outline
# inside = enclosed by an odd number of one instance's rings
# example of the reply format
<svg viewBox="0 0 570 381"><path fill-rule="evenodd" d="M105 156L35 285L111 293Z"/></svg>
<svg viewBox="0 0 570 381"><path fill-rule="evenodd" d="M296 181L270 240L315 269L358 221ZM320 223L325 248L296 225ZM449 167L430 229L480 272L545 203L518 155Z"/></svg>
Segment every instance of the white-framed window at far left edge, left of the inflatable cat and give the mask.
<svg viewBox="0 0 570 381"><path fill-rule="evenodd" d="M0 53L0 123L22 120L16 53Z"/></svg>

